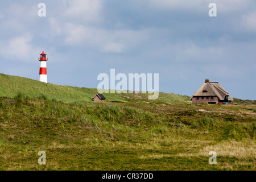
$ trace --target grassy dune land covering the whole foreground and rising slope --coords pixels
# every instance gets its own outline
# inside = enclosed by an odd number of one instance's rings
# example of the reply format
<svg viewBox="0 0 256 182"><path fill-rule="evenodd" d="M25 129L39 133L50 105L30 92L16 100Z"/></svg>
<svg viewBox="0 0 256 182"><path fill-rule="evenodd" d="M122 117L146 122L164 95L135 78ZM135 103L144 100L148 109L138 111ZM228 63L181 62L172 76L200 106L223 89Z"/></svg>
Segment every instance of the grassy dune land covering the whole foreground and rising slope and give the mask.
<svg viewBox="0 0 256 182"><path fill-rule="evenodd" d="M256 105L191 105L165 93L94 103L96 89L0 78L1 170L256 169ZM217 165L208 163L212 150Z"/></svg>

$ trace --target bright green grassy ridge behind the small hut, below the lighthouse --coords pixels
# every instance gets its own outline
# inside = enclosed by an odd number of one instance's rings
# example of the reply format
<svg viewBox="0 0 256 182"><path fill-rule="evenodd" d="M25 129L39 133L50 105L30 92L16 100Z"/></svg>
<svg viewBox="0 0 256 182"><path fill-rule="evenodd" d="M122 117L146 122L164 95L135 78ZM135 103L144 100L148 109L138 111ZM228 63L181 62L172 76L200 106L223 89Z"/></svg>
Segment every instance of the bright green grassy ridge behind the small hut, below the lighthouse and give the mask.
<svg viewBox="0 0 256 182"><path fill-rule="evenodd" d="M23 93L28 97L45 96L49 99L55 99L63 102L85 101L91 102L92 97L97 93L94 88L79 88L75 86L63 86L49 83L43 83L30 78L4 75L0 73L0 96L15 97L18 93ZM147 98L147 94L104 94L108 101L125 101L135 98ZM180 96L177 94L159 93L160 101L173 102L185 101L189 102L188 96Z"/></svg>

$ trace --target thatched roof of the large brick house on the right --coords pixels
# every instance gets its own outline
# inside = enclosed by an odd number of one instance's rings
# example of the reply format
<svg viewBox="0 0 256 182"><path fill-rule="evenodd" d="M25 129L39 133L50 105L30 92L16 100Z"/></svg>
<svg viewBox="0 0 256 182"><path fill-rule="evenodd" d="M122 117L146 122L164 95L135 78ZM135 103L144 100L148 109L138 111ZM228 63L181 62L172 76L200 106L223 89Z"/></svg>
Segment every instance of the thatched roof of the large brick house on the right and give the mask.
<svg viewBox="0 0 256 182"><path fill-rule="evenodd" d="M217 96L219 100L225 100L225 96L228 96L228 100L233 101L233 98L218 82L210 82L209 80L205 80L193 96Z"/></svg>

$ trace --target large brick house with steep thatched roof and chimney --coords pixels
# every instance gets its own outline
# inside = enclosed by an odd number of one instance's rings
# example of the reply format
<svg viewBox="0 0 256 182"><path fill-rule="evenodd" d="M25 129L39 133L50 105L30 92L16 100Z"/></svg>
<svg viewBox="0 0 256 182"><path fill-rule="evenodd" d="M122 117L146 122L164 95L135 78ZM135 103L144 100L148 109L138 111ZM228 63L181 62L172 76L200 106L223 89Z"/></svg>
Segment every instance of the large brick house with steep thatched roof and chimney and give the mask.
<svg viewBox="0 0 256 182"><path fill-rule="evenodd" d="M206 79L190 100L192 104L231 104L233 98L218 82Z"/></svg>

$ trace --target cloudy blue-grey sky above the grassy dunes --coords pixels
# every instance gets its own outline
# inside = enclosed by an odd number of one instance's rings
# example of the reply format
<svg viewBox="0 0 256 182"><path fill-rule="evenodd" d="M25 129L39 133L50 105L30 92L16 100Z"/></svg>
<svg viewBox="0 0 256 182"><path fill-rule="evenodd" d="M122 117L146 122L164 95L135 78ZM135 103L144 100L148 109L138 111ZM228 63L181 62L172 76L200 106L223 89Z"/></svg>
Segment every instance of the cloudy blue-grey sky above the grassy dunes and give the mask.
<svg viewBox="0 0 256 182"><path fill-rule="evenodd" d="M44 51L52 84L97 88L115 69L159 73L159 92L192 96L209 78L256 100L255 0L5 1L0 22L0 73L39 80Z"/></svg>

